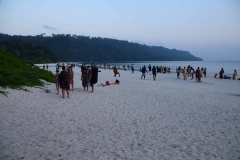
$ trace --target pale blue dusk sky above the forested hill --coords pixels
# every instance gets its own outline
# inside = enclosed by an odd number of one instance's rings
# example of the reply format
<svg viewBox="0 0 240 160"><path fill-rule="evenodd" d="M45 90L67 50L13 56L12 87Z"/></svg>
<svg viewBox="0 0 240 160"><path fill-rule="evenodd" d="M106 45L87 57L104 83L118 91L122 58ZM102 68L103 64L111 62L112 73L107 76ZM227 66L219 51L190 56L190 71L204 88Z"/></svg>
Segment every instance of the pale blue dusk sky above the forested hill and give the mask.
<svg viewBox="0 0 240 160"><path fill-rule="evenodd" d="M0 0L0 33L113 38L240 61L240 0Z"/></svg>

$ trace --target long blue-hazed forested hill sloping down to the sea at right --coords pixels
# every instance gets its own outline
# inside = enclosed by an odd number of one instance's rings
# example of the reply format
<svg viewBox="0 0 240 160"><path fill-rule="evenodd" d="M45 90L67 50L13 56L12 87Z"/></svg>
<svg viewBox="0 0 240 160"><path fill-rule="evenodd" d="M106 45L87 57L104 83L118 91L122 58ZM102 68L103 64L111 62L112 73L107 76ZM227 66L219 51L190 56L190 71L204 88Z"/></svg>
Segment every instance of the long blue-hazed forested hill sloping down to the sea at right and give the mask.
<svg viewBox="0 0 240 160"><path fill-rule="evenodd" d="M202 61L188 51L147 46L109 38L57 34L52 36L10 36L0 40L18 40L48 47L60 61Z"/></svg>

